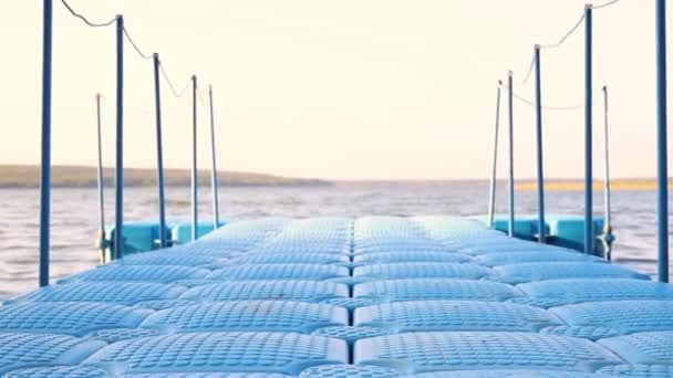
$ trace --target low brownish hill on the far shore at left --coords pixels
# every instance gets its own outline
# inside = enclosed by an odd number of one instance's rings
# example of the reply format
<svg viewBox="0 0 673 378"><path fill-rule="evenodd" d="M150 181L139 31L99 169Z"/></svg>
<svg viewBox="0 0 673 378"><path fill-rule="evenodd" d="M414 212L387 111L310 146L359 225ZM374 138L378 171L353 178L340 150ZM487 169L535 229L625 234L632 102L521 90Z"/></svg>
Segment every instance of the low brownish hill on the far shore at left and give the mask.
<svg viewBox="0 0 673 378"><path fill-rule="evenodd" d="M191 174L188 169L166 169L167 186L189 186ZM114 186L114 168L103 172L105 186ZM210 171L199 170L199 185L210 185ZM220 185L225 186L324 186L329 181L318 179L299 179L263 174L218 172ZM35 188L40 185L40 167L21 165L0 165L0 188ZM95 167L54 166L52 167L52 186L54 187L95 187L97 176ZM125 168L124 185L144 187L156 185L156 170L144 168Z"/></svg>

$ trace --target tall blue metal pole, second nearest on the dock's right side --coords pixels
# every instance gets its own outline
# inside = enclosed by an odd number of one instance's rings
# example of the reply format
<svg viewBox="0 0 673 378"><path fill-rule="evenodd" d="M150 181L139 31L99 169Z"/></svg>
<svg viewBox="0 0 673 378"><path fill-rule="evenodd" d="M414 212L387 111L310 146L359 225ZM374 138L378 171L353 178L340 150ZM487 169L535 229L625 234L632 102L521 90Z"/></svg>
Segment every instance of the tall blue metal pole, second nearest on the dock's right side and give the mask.
<svg viewBox="0 0 673 378"><path fill-rule="evenodd" d="M592 11L592 6L587 4L584 8L584 253L593 253Z"/></svg>

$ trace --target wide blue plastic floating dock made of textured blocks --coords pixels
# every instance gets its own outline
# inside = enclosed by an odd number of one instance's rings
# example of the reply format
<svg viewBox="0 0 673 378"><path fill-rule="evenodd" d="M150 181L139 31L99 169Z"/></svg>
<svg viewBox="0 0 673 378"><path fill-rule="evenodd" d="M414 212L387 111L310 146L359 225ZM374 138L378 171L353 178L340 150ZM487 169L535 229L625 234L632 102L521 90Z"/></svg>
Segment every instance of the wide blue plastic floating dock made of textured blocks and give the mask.
<svg viewBox="0 0 673 378"><path fill-rule="evenodd" d="M6 377L669 377L673 287L451 217L229 223L0 307Z"/></svg>

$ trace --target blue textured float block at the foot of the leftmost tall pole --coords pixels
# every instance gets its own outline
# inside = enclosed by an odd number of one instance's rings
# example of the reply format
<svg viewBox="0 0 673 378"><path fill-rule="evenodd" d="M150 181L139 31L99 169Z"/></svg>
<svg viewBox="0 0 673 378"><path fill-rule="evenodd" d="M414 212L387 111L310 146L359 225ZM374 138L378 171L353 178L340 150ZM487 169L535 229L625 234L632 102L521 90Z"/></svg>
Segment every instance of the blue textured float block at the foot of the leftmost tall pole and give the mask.
<svg viewBox="0 0 673 378"><path fill-rule="evenodd" d="M146 282L81 282L42 287L13 302L104 302L134 305L139 302L174 300L186 287Z"/></svg>

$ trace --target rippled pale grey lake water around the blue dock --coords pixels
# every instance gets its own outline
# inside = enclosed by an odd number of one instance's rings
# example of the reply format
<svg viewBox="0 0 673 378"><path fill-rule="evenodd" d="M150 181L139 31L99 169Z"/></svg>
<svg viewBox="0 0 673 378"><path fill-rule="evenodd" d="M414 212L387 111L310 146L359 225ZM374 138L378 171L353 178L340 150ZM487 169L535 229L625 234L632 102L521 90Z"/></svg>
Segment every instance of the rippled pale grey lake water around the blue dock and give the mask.
<svg viewBox="0 0 673 378"><path fill-rule="evenodd" d="M35 189L0 189L0 300L34 290L38 282L39 196ZM114 191L105 192L107 224L114 221ZM324 187L222 187L225 219L319 216L476 216L487 211L487 182L355 182ZM157 218L156 190L125 190L125 220ZM535 213L535 192L517 193L517 212ZM507 210L504 185L499 212ZM594 195L602 213L602 193ZM211 219L210 192L200 191L200 219ZM655 196L651 191L617 191L612 196L617 235L613 259L654 274ZM582 192L548 192L547 212L583 213ZM189 188L167 188L170 220L188 220ZM94 248L99 222L95 189L55 188L52 199L52 281L99 263Z"/></svg>

